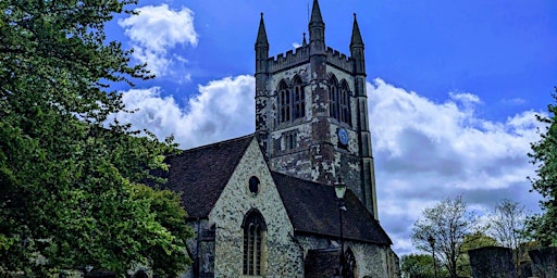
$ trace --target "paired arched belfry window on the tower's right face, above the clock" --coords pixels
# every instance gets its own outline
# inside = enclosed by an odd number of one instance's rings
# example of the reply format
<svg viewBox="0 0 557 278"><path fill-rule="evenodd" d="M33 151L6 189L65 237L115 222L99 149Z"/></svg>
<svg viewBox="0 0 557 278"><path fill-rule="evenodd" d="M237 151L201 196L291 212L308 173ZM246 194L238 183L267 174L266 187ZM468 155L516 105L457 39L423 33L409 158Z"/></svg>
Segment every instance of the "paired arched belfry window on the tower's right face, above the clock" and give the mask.
<svg viewBox="0 0 557 278"><path fill-rule="evenodd" d="M341 123L350 125L350 89L345 79L338 85L333 75L329 80L329 115Z"/></svg>

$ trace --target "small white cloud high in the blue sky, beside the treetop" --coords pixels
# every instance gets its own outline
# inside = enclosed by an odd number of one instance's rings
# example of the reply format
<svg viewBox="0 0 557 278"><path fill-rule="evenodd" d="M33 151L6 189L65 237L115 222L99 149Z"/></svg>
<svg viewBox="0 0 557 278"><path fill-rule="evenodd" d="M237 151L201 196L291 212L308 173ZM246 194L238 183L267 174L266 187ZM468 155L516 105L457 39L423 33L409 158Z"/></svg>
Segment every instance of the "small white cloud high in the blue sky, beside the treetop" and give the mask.
<svg viewBox="0 0 557 278"><path fill-rule="evenodd" d="M147 63L148 68L159 76L169 73L173 61L187 63L183 56L172 59L168 51L176 45L197 46L194 12L187 8L174 11L168 4L146 5L136 12L137 15L119 21L134 47L134 58Z"/></svg>

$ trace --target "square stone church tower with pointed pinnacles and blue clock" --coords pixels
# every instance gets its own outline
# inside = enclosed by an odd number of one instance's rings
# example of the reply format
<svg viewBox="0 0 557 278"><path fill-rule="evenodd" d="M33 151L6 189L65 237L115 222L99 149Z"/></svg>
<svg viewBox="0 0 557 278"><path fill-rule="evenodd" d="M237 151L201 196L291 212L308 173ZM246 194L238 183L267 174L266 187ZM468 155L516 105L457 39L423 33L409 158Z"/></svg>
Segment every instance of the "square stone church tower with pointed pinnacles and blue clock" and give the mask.
<svg viewBox="0 0 557 278"><path fill-rule="evenodd" d="M256 40L256 134L271 169L333 185L342 177L377 218L366 92L363 40L356 14L350 56L325 46L313 0L301 47L269 56L263 22Z"/></svg>

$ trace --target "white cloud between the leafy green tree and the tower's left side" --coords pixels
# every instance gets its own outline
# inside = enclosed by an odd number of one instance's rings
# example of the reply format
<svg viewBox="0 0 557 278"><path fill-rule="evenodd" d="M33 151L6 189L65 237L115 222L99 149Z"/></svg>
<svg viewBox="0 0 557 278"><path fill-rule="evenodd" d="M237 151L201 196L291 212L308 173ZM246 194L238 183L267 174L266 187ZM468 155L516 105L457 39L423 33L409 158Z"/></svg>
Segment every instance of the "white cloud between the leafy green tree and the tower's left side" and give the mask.
<svg viewBox="0 0 557 278"><path fill-rule="evenodd" d="M133 89L123 93L123 101L136 112L115 116L160 139L174 135L181 148L188 149L253 132L253 92L255 79L247 75L200 85L185 103L162 97L157 87Z"/></svg>

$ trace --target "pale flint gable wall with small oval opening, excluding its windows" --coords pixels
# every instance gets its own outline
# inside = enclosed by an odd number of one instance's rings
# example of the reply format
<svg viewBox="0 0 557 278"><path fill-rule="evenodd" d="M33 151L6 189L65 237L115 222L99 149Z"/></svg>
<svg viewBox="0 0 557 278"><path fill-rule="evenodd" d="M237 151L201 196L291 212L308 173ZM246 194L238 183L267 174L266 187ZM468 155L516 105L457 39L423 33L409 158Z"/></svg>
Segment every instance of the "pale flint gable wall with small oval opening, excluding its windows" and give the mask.
<svg viewBox="0 0 557 278"><path fill-rule="evenodd" d="M248 190L251 176L261 181L257 195ZM214 276L243 277L242 223L250 208L257 208L267 224L264 277L302 277L301 250L290 236L294 228L256 140L209 215L209 220L215 225Z"/></svg>

